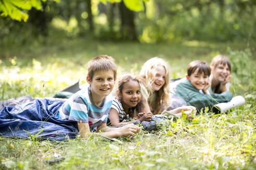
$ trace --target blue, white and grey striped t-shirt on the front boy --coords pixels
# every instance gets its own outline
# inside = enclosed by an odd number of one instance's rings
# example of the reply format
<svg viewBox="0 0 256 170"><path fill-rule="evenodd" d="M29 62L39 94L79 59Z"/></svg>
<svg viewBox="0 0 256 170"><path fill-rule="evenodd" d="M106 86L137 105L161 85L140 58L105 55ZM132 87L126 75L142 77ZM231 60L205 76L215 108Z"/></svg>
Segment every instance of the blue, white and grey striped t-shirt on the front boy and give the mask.
<svg viewBox="0 0 256 170"><path fill-rule="evenodd" d="M96 127L107 123L109 110L112 105L112 94L105 97L100 107L93 103L89 87L76 92L59 109L60 117L64 120L74 120L88 123Z"/></svg>

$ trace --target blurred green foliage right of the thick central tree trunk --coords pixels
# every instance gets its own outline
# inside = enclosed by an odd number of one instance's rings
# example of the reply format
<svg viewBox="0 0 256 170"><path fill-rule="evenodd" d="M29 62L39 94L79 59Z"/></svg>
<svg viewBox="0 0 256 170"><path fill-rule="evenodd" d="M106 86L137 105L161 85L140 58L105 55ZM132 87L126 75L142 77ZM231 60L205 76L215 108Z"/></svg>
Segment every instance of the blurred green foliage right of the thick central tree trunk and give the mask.
<svg viewBox="0 0 256 170"><path fill-rule="evenodd" d="M244 6L240 6L244 4ZM255 35L255 3L252 1L153 1L155 13L140 13L141 40L249 40ZM252 19L251 16L254 16Z"/></svg>

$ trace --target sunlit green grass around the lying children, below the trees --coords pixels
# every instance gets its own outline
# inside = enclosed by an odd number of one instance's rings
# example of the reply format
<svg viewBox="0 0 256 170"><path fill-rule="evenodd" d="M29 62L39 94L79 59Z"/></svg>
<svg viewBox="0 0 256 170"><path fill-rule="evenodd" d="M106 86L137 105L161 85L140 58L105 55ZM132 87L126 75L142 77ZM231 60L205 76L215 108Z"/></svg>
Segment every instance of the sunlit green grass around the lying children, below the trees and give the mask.
<svg viewBox="0 0 256 170"><path fill-rule="evenodd" d="M231 50L227 50L227 48ZM80 79L87 62L99 54L116 59L118 76L138 74L153 56L166 59L171 78L183 77L190 61L210 63L224 53L232 58L232 93L246 105L212 117L201 112L193 121L159 125L134 137L109 142L99 136L60 143L0 137L0 169L254 169L256 49L253 42L199 41L139 44L93 39L55 38L26 46L0 47L0 100L52 96ZM248 50L245 50L248 49ZM16 57L15 57L16 56ZM61 157L63 161L47 164Z"/></svg>

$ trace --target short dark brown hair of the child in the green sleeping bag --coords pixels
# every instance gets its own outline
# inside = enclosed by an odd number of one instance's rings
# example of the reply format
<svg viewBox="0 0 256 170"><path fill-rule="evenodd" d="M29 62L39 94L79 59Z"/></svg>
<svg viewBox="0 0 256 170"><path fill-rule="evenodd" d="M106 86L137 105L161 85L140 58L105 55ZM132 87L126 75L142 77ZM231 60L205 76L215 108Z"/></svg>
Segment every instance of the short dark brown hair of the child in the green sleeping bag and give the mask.
<svg viewBox="0 0 256 170"><path fill-rule="evenodd" d="M191 76L198 68L198 73L203 73L204 75L210 76L211 75L211 69L209 65L206 62L203 61L193 61L188 64L187 66L187 75Z"/></svg>

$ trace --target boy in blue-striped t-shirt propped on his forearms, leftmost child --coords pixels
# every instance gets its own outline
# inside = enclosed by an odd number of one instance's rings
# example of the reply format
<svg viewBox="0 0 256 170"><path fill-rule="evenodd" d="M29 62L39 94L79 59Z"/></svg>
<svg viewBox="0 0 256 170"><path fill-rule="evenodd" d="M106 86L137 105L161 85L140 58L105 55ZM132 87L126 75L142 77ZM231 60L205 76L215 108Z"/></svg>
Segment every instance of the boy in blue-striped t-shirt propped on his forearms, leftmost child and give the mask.
<svg viewBox="0 0 256 170"><path fill-rule="evenodd" d="M107 126L116 76L117 66L113 59L107 55L97 56L88 63L86 80L89 86L73 94L59 109L62 119L78 122L81 137L92 134L90 129L94 127L96 133L101 132L106 137L129 136L139 131L134 124L118 128Z"/></svg>

